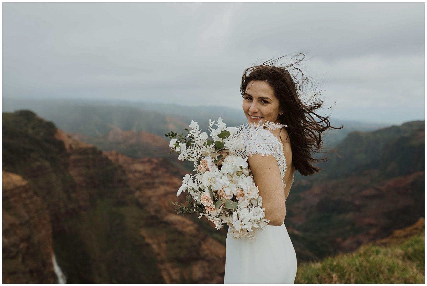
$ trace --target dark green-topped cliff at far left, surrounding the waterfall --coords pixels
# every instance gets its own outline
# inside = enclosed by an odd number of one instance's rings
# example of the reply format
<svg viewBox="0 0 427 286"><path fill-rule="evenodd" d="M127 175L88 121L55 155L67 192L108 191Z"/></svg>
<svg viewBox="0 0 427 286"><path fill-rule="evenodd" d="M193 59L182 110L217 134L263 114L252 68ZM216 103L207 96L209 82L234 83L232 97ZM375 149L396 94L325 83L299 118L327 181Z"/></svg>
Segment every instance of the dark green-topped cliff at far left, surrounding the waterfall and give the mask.
<svg viewBox="0 0 427 286"><path fill-rule="evenodd" d="M55 283L53 252L67 283L164 282L123 167L31 111L3 113L3 154L29 186L3 180L5 282Z"/></svg>

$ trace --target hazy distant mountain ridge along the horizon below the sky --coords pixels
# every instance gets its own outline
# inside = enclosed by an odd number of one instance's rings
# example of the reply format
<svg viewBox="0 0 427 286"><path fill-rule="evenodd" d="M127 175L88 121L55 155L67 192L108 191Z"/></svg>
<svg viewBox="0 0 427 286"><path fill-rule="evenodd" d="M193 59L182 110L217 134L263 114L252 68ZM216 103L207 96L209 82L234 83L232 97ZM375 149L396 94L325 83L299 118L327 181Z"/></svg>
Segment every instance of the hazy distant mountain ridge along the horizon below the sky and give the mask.
<svg viewBox="0 0 427 286"><path fill-rule="evenodd" d="M228 126L247 123L240 108L224 106L182 106L167 103L149 103L128 100L99 99L14 99L3 97L3 111L30 109L39 116L53 121L67 133L81 133L86 136L103 136L116 126L123 131L145 131L164 135L169 131L184 132L191 120L208 131L208 120L222 117ZM352 131L371 131L391 124L357 122L331 118L331 125L341 126L323 134L325 147L339 143ZM328 135L326 135L328 133Z"/></svg>

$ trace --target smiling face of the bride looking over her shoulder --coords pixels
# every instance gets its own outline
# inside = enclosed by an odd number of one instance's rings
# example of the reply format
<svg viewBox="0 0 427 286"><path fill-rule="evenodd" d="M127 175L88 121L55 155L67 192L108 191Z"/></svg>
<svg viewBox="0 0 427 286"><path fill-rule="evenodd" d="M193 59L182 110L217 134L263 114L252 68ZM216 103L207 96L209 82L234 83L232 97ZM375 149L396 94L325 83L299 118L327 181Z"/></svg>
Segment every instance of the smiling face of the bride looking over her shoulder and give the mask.
<svg viewBox="0 0 427 286"><path fill-rule="evenodd" d="M258 80L250 81L245 92L242 107L248 123L257 123L260 120L263 120L263 123L266 121L279 123L279 113L283 111L273 88L268 83Z"/></svg>

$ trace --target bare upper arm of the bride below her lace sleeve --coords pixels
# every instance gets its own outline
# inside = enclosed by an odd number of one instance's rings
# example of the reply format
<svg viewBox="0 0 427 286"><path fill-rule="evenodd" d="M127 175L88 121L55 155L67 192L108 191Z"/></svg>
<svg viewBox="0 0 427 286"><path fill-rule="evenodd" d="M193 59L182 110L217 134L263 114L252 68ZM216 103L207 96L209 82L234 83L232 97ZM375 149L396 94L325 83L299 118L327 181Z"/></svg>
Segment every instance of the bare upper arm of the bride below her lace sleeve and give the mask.
<svg viewBox="0 0 427 286"><path fill-rule="evenodd" d="M280 170L273 155L255 154L248 157L255 185L263 198L263 208L269 225L281 226L286 216L285 194Z"/></svg>

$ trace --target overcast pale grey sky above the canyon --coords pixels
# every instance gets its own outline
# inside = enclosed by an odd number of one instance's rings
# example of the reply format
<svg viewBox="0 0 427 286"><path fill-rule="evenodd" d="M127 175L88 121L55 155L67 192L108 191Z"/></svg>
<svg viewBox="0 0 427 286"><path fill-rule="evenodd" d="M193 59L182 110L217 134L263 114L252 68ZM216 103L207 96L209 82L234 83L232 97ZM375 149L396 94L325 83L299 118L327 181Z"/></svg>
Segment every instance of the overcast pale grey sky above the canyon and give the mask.
<svg viewBox="0 0 427 286"><path fill-rule="evenodd" d="M7 97L241 110L243 71L298 52L326 114L424 120L424 3L3 3Z"/></svg>

